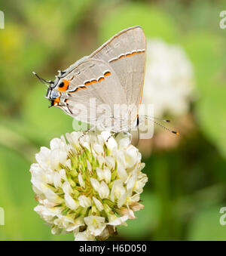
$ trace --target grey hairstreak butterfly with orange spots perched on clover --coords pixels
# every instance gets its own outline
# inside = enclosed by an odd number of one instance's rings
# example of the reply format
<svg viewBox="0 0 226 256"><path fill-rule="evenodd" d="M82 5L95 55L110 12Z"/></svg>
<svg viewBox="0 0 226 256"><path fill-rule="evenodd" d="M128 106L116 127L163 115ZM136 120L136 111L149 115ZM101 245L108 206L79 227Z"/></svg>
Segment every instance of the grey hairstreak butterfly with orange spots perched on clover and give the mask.
<svg viewBox="0 0 226 256"><path fill-rule="evenodd" d="M102 125L108 119L108 125L103 126L115 132L127 131L136 124L142 100L145 48L142 28L133 26L113 36L90 56L59 71L54 82L47 82L33 73L49 84L46 97L50 106L63 109L69 116L90 125ZM91 98L96 100L97 107L107 105L108 111L103 107L104 113L93 112ZM115 106L124 105L130 108L123 115L116 115Z"/></svg>

